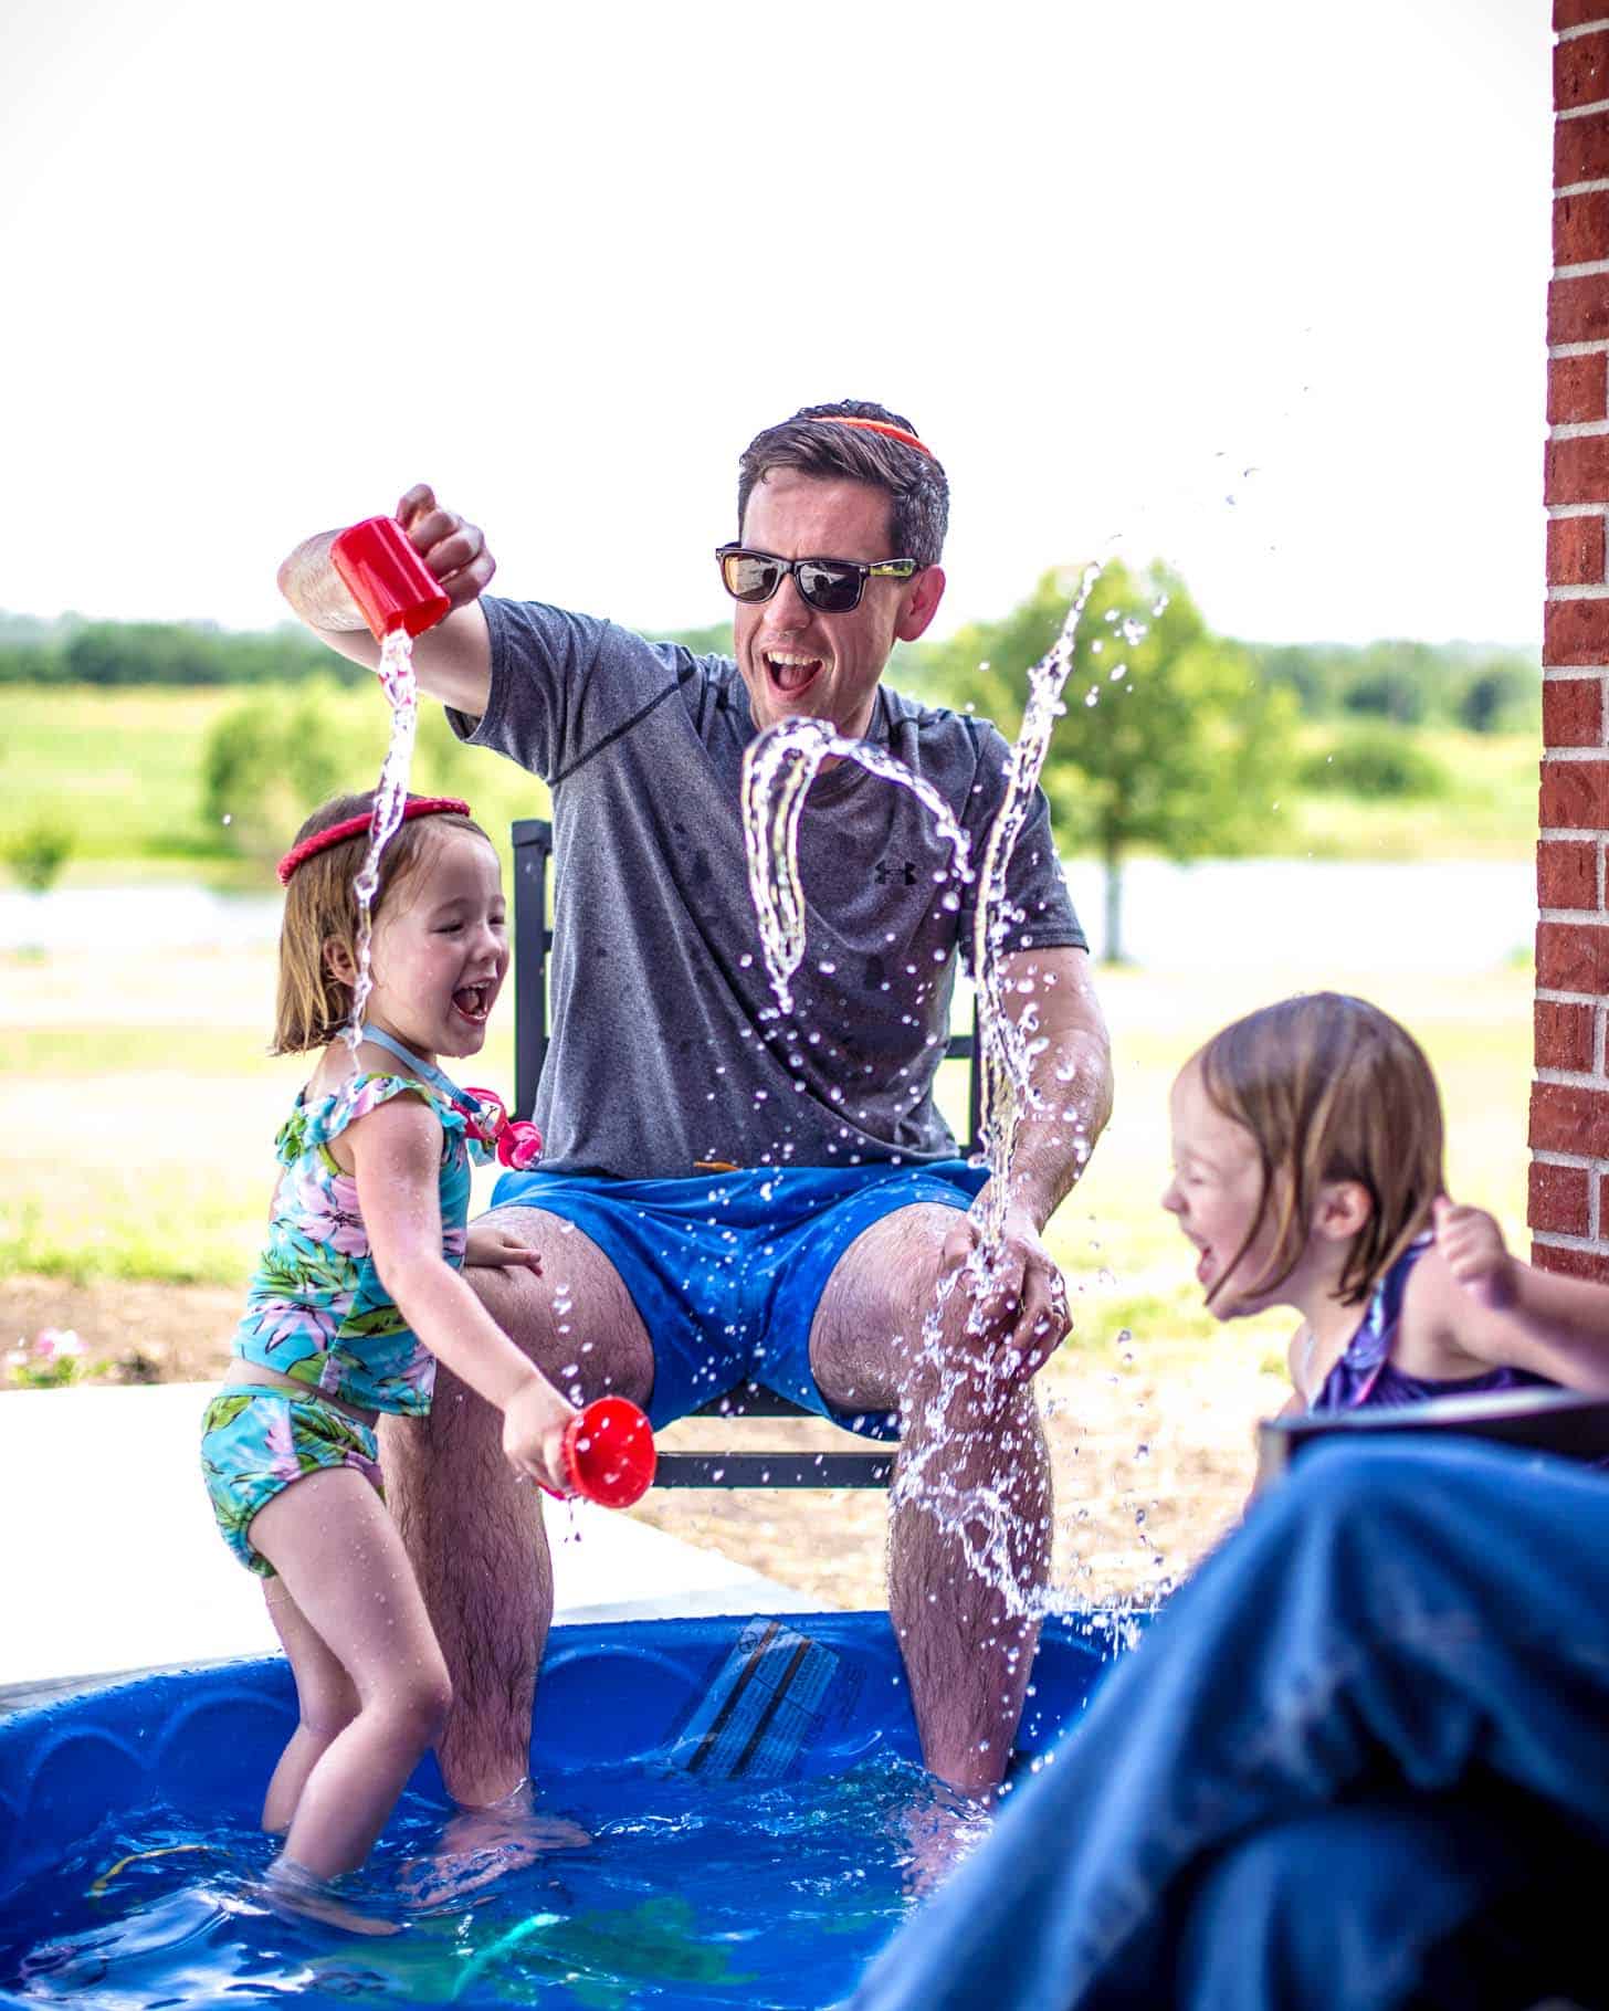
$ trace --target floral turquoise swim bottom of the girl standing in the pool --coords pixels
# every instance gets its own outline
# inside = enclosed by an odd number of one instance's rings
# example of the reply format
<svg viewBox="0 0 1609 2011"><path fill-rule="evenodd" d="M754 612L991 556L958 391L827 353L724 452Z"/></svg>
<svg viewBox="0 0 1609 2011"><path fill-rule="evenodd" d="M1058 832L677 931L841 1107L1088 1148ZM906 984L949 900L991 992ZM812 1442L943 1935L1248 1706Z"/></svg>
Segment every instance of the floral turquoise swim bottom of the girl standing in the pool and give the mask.
<svg viewBox="0 0 1609 2011"><path fill-rule="evenodd" d="M334 1404L284 1390L219 1390L201 1416L201 1476L223 1540L259 1579L274 1565L247 1538L251 1518L292 1480L354 1466L386 1498L374 1432Z"/></svg>

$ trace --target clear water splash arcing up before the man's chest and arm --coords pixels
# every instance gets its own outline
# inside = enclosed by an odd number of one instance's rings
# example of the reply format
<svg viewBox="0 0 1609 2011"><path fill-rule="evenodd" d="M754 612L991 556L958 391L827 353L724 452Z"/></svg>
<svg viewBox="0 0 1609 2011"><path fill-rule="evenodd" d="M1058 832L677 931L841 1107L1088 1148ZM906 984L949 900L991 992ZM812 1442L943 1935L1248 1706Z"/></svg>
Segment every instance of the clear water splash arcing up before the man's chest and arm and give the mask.
<svg viewBox="0 0 1609 2011"><path fill-rule="evenodd" d="M1048 1110L1048 1098L1032 1082L1032 1062L1040 1052L1038 1008L1022 1003L1016 1018L1006 1010L1002 957L1012 925L1020 919L1006 899L1012 853L1034 804L1040 770L1050 748L1050 734L1066 710L1062 692L1072 674L1078 623L1088 605L1100 567L1086 567L1068 607L1062 629L1044 658L1028 674L1028 706L1022 732L1012 746L1006 770L1006 798L984 841L984 863L977 871L977 899L971 925L971 977L977 989L977 1072L979 1072L979 1132L990 1180L979 1197L979 1237L971 1257L947 1273L927 1309L919 1349L923 1359L941 1367L935 1394L929 1400L925 1430L895 1478L893 1502L919 1502L949 1534L969 1569L1000 1595L1012 1617L1028 1619L1042 1607L1032 1589L1022 1587L1014 1565L1012 1538L1018 1510L1002 1486L959 1488L941 1470L929 1468L943 1444L953 1444L947 1412L965 1372L943 1367L943 1309L951 1293L965 1285L969 1295L967 1325L984 1327L984 1305L992 1297L1002 1269L1006 1213L1010 1207L1012 1164L1024 1116ZM748 883L760 925L766 975L782 1014L792 1012L792 977L804 957L804 889L798 879L798 818L804 794L821 764L831 758L859 762L871 774L907 788L933 814L933 822L949 843L955 875L971 881L969 843L949 806L923 778L905 768L881 748L845 740L823 720L782 720L754 740L744 756L742 822L748 847ZM959 905L947 895L951 905ZM1016 1359L986 1359L984 1378L1010 1376ZM909 1440L911 1420L901 1420L901 1438Z"/></svg>

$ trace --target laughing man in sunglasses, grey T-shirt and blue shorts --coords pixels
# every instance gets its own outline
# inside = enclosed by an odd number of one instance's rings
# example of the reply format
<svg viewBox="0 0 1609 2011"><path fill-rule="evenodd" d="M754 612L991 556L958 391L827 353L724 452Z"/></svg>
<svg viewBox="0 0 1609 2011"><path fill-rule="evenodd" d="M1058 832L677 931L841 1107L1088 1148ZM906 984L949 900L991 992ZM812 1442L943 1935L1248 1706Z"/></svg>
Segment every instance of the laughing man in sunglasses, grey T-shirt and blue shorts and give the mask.
<svg viewBox="0 0 1609 2011"><path fill-rule="evenodd" d="M1032 1016L1042 1100L988 1301L951 1291L923 1337L941 1279L973 1249L965 1211L984 1184L929 1094L975 883L955 883L905 790L853 762L823 772L798 839L809 945L782 1018L738 812L744 748L809 716L921 772L981 857L1006 786L1000 734L881 682L943 593L943 469L875 404L811 406L762 432L742 456L738 543L722 547L736 664L483 597L493 559L473 525L422 487L398 517L453 603L416 642L418 682L463 738L553 792L547 1158L499 1184L491 1219L541 1273L509 1261L473 1283L575 1400L617 1390L658 1426L756 1374L845 1424L897 1430L901 1468L923 1478L909 1500L895 1488L889 1546L923 1754L988 1794L1022 1711L1050 1542L1030 1376L1068 1313L1040 1231L1110 1108L1084 935L1040 796L1008 887L1004 969L1012 1014ZM330 541L298 547L280 583L326 642L374 664ZM493 1414L444 1372L428 1430L398 1434L388 1462L453 1671L442 1774L459 1802L499 1804L523 1792L551 1613L541 1516Z"/></svg>

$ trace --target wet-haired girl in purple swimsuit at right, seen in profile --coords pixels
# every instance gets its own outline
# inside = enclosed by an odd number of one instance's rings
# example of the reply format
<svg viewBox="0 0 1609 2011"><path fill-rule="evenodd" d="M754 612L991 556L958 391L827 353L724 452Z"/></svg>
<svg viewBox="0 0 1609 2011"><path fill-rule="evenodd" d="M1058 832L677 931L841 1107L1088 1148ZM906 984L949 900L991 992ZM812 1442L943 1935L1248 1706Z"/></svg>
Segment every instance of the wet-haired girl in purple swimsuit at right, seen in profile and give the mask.
<svg viewBox="0 0 1609 2011"><path fill-rule="evenodd" d="M1525 1386L1609 1394L1609 1291L1535 1271L1442 1182L1442 1102L1376 1006L1307 993L1237 1020L1173 1086L1163 1207L1219 1319L1303 1315L1285 1412Z"/></svg>

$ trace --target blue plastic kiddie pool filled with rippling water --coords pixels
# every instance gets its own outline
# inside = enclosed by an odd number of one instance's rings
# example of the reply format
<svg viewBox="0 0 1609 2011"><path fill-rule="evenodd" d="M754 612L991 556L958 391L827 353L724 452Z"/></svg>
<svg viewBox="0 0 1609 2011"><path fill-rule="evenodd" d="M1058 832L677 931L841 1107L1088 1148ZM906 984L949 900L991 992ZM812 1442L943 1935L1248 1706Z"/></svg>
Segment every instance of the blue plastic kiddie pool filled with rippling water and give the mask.
<svg viewBox="0 0 1609 2011"><path fill-rule="evenodd" d="M1110 1653L1100 1623L1046 1625L1018 1772ZM531 1774L591 1844L404 1902L446 1818L426 1762L354 1892L402 1931L368 1939L253 1896L294 1713L265 1659L0 1719L0 2005L802 2011L853 1989L957 1822L917 1764L885 1613L559 1627Z"/></svg>

